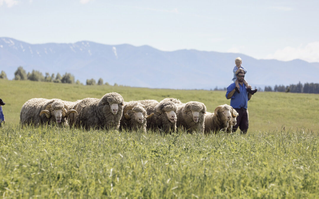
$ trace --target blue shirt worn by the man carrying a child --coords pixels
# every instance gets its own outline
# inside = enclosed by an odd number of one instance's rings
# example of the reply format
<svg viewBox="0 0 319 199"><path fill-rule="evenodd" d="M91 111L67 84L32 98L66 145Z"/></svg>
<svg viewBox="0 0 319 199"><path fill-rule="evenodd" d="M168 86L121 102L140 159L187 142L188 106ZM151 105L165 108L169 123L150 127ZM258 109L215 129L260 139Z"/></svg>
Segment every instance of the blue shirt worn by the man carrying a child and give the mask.
<svg viewBox="0 0 319 199"><path fill-rule="evenodd" d="M231 85L229 85L227 87L227 92L226 92L226 98L228 96L228 94L234 90L236 87L235 83L232 83ZM230 105L234 108L234 109L240 109L240 108L245 108L247 109L247 104L248 104L248 92L246 89L245 84L239 84L240 87L240 93L235 92L234 95L230 98Z"/></svg>

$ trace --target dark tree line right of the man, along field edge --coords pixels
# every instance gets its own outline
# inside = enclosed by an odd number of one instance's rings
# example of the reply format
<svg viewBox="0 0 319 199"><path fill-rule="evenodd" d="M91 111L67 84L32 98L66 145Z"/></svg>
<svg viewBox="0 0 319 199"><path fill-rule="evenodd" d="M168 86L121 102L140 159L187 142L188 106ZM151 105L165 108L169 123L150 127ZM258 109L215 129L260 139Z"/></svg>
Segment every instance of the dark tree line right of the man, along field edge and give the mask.
<svg viewBox="0 0 319 199"><path fill-rule="evenodd" d="M291 92L291 93L319 93L319 83L298 83L290 84L289 86L275 85L274 89L271 86L265 86L265 91L272 92Z"/></svg>

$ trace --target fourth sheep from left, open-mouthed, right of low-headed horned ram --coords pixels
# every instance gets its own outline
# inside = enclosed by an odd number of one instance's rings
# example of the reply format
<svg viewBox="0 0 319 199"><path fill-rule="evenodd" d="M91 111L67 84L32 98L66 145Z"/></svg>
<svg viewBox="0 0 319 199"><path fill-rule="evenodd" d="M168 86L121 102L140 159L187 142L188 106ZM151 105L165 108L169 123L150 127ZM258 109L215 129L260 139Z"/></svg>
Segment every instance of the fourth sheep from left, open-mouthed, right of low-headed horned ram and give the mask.
<svg viewBox="0 0 319 199"><path fill-rule="evenodd" d="M164 133L176 131L176 111L177 106L171 101L140 100L138 101L146 107L148 115L154 113L152 117L146 119L146 128Z"/></svg>

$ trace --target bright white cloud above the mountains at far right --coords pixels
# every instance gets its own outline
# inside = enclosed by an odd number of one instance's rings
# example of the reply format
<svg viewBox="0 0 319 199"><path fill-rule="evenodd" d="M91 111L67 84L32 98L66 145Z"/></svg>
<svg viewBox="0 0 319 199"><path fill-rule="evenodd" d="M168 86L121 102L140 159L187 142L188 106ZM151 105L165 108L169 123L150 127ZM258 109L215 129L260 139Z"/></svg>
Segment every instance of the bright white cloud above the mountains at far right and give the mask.
<svg viewBox="0 0 319 199"><path fill-rule="evenodd" d="M319 62L319 41L300 45L299 47L287 46L283 49L278 49L275 53L267 55L266 59L282 61L300 59L308 62Z"/></svg>

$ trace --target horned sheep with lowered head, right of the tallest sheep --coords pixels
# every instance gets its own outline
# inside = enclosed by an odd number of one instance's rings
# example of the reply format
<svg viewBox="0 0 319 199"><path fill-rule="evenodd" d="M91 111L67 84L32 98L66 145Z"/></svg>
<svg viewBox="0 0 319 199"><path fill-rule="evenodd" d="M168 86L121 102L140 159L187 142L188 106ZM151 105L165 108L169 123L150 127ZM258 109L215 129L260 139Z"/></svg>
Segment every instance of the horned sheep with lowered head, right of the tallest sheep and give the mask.
<svg viewBox="0 0 319 199"><path fill-rule="evenodd" d="M147 115L146 108L137 101L125 102L120 121L120 129L142 130L146 132L146 119L154 113Z"/></svg>

